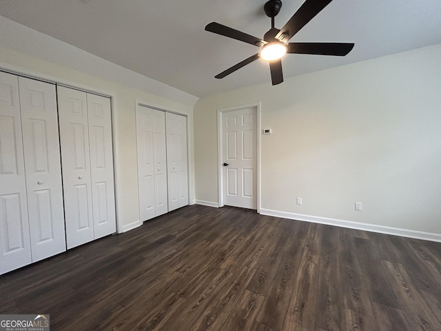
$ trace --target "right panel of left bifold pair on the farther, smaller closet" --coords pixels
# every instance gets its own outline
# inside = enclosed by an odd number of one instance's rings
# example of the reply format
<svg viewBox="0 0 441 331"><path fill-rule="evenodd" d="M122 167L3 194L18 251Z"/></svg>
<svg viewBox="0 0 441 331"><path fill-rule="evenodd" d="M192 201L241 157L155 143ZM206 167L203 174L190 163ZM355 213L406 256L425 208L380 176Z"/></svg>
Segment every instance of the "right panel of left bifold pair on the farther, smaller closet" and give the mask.
<svg viewBox="0 0 441 331"><path fill-rule="evenodd" d="M168 212L167 147L165 146L165 112L152 110L155 216Z"/></svg>

